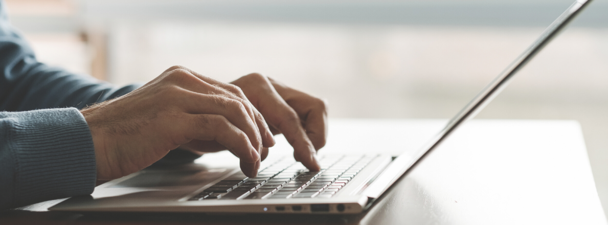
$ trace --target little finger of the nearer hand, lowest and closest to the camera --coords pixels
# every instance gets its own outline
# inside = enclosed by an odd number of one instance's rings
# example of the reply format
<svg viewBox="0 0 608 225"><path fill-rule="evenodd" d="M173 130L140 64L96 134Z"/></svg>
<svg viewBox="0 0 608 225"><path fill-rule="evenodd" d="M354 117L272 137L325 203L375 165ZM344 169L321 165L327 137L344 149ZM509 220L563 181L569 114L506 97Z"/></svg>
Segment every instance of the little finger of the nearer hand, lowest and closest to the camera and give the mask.
<svg viewBox="0 0 608 225"><path fill-rule="evenodd" d="M241 162L255 163L260 161L260 154L251 145L247 134L239 130L226 119L215 114L188 115L190 119L184 124L184 136L190 140L215 140L226 146L241 159Z"/></svg>

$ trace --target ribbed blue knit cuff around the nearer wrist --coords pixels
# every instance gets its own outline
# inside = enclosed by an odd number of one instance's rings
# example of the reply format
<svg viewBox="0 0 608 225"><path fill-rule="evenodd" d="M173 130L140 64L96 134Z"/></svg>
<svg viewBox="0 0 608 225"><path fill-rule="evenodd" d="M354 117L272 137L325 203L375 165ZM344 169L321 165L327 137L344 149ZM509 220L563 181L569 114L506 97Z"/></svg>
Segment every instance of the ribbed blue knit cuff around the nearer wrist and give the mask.
<svg viewBox="0 0 608 225"><path fill-rule="evenodd" d="M75 108L16 112L15 204L89 195L97 168L91 131Z"/></svg>

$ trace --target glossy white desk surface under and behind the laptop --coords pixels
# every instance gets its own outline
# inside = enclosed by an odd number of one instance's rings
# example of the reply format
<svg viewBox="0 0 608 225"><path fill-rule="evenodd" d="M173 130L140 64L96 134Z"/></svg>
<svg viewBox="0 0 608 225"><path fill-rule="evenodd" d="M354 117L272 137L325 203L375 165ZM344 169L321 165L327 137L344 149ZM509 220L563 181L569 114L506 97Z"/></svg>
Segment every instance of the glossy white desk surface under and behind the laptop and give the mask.
<svg viewBox="0 0 608 225"><path fill-rule="evenodd" d="M331 120L322 151L412 151L444 122ZM286 146L278 142L271 156L289 154ZM282 148L278 153L276 149ZM203 156L199 162L209 164L222 154ZM99 216L26 211L44 211L57 202L0 212L0 224L607 224L579 125L557 120L473 120L361 215Z"/></svg>

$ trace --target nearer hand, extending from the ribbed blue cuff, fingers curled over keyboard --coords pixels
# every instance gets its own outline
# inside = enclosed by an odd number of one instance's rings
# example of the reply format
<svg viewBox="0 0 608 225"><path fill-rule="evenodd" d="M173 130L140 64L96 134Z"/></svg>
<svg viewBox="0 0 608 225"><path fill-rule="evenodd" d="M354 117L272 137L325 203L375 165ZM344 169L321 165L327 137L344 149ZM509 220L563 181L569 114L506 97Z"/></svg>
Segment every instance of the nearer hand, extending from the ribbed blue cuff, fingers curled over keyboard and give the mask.
<svg viewBox="0 0 608 225"><path fill-rule="evenodd" d="M253 177L262 148L275 144L240 88L180 66L81 113L91 129L100 180L139 171L177 147L209 152L218 145L239 157L243 173Z"/></svg>

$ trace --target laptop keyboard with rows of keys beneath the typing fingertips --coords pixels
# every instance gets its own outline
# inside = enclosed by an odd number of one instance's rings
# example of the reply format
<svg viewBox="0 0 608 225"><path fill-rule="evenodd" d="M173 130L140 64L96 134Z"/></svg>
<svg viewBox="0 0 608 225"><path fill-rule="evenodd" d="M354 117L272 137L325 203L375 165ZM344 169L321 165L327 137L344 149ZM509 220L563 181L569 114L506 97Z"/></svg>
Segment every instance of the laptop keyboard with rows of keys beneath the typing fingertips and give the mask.
<svg viewBox="0 0 608 225"><path fill-rule="evenodd" d="M213 184L188 201L210 199L331 198L376 156L326 155L321 171L309 171L292 157L284 157L247 178L242 172Z"/></svg>

